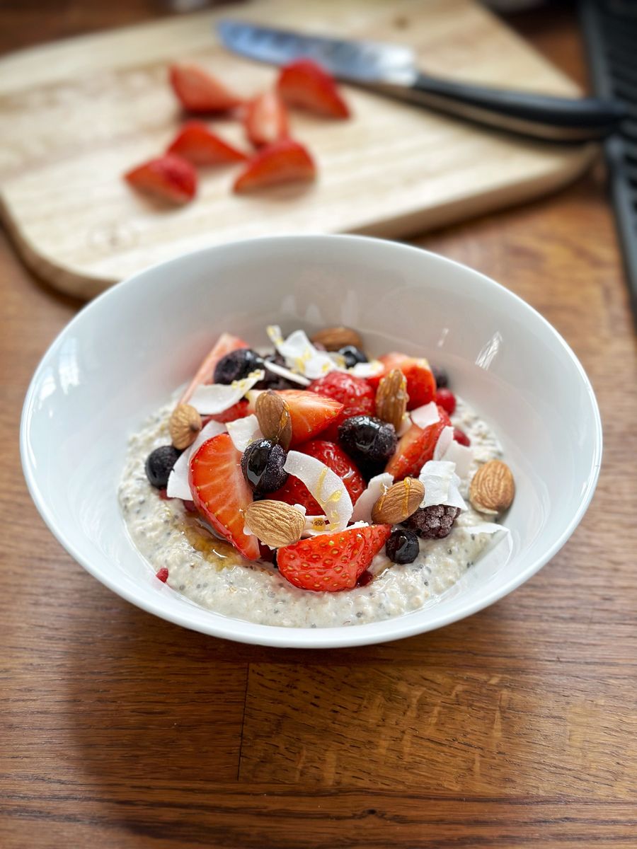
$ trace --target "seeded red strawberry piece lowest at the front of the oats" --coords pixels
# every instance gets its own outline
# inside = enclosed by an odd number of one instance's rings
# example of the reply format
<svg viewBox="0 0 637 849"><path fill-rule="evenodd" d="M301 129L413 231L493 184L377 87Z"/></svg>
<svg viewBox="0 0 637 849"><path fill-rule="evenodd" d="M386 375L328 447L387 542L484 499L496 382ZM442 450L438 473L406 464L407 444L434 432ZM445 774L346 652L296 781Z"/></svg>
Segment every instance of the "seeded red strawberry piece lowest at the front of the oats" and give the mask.
<svg viewBox="0 0 637 849"><path fill-rule="evenodd" d="M295 587L317 593L352 589L391 532L391 525L372 525L302 539L279 548L279 572Z"/></svg>

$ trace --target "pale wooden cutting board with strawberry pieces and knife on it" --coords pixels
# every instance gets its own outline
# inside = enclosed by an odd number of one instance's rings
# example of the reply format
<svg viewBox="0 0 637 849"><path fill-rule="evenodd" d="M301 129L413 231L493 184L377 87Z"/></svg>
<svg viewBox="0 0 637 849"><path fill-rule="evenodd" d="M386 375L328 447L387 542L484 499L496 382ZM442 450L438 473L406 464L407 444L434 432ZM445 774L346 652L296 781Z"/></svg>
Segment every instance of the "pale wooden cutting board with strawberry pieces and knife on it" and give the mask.
<svg viewBox="0 0 637 849"><path fill-rule="evenodd" d="M318 160L311 186L236 196L234 168L201 171L178 210L134 194L121 173L161 152L182 115L166 63L194 59L246 95L275 70L221 47L225 15L407 43L432 73L577 95L577 87L471 0L257 0L55 42L0 61L0 211L32 269L91 297L158 261L276 233L404 236L567 183L592 149L507 138L347 88L351 121L295 113ZM211 125L236 143L241 127Z"/></svg>

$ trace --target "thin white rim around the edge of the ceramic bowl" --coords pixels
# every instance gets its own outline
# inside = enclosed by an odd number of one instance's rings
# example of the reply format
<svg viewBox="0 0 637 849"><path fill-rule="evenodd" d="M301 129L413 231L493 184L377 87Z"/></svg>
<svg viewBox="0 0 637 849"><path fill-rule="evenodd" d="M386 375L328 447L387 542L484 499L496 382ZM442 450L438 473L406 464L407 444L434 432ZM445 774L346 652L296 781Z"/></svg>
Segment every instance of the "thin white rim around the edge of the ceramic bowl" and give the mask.
<svg viewBox="0 0 637 849"><path fill-rule="evenodd" d="M527 316L529 318L532 318L533 321L539 322L541 325L544 325L544 329L548 330L550 335L554 336L555 340L561 346L561 349L564 351L566 356L571 360L572 364L575 366L576 372L579 375L580 380L582 380L583 386L589 396L591 411L593 413L595 446L592 456L590 457L586 489L582 493L582 497L579 500L578 509L576 509L575 512L572 514L571 519L567 522L567 525L561 531L559 537L555 539L554 543L550 546L550 548L547 548L544 554L538 556L533 561L533 563L527 566L525 570L516 573L513 576L510 576L509 580L499 584L490 592L484 593L479 598L473 600L471 603L458 604L456 605L456 608L454 610L451 610L448 613L443 614L442 616L433 615L428 621L416 621L414 616L417 616L417 614L420 613L421 610L414 610L410 611L409 614L395 616L391 619L369 622L365 625L325 628L280 627L260 625L255 622L234 619L232 617L223 616L223 614L217 614L214 611L207 611L205 608L200 608L198 605L194 605L194 608L196 610L203 610L206 613L211 614L209 622L205 621L195 623L189 621L189 616L187 615L187 613L182 612L181 610L163 610L157 604L155 604L154 599L139 599L136 593L130 591L125 586L121 586L120 583L117 580L113 580L109 574L104 574L102 571L99 570L99 568L93 566L91 559L84 557L76 548L75 544L69 538L65 537L64 531L61 527L58 526L58 523L54 519L53 513L48 508L46 498L44 498L42 492L40 492L40 489L37 486L36 470L31 465L30 452L28 450L27 445L31 424L31 416L34 408L36 385L40 380L42 371L44 370L44 368L47 367L49 358L54 354L54 351L56 351L56 349L62 343L62 340L64 340L65 336L69 334L70 331L75 327L76 323L80 323L84 320L84 317L87 313L99 310L104 304L104 301L108 301L110 298L113 297L118 297L118 293L121 292L122 289L130 288L131 286L136 285L136 281L138 281L139 278L143 278L147 275L152 275L160 268L166 269L167 267L171 267L172 265L178 265L180 262L183 262L183 260L187 257L203 257L206 255L213 256L216 252L220 250L233 250L236 249L238 246L245 247L248 244L272 245L273 243L279 243L279 245L282 245L283 243L288 243L291 241L294 241L299 244L302 242L333 242L334 240L338 240L339 242L347 241L352 243L363 243L369 245L382 245L383 250L395 250L397 253L399 252L403 254L413 253L414 255L419 256L425 254L426 256L434 258L435 261L443 262L443 264L448 264L449 266L459 268L462 273L469 272L471 273L471 275L481 278L482 284L485 285L487 289L505 292L505 295L509 297L513 302L515 302L516 306L520 307L522 312L526 312ZM31 495L31 498L33 499L33 502L35 503L36 508L39 514L42 516L42 519L44 520L45 524L48 526L49 531L51 531L51 533L58 540L60 545L68 552L68 554L70 554L70 556L75 559L77 563L82 565L82 567L90 575L96 578L100 583L104 584L104 586L109 588L112 592L116 593L121 598L126 599L131 604L134 604L142 610L145 610L147 613L159 616L161 619L171 621L176 625L180 625L182 627L189 628L189 630L198 631L200 633L205 633L217 638L231 639L235 642L245 644L267 645L273 648L335 649L360 645L386 643L396 639L412 637L420 633L427 633L439 627L444 627L455 621L465 619L465 617L467 616L472 616L479 610L484 610L484 608L489 607L491 604L494 604L495 602L499 601L499 599L503 599L506 595L511 593L516 588L520 587L521 584L527 582L530 577L536 574L536 572L538 572L546 563L549 562L550 559L555 556L555 554L560 551L562 546L567 543L569 537L572 536L573 531L575 531L575 529L578 527L579 523L583 519L583 515L586 513L586 510L589 507L589 503L595 493L595 487L597 486L597 481L600 475L601 456L602 427L600 419L600 410L597 404L597 399L595 398L595 391L593 390L589 377L584 371L582 364L579 362L578 357L576 357L575 353L572 351L572 348L567 344L567 341L564 340L564 338L553 327L553 325L546 318L544 318L533 306L530 306L527 301L524 301L519 295L516 295L515 292L510 291L502 284L499 284L498 282L493 280L493 278L488 277L486 274L476 271L476 269L471 268L470 266L467 266L462 262L456 261L447 256L443 256L442 254L438 254L435 251L425 250L414 245L405 245L403 243L394 242L387 239L378 239L370 236L360 236L351 234L291 233L287 235L264 236L255 239L241 239L234 242L227 242L223 245L211 245L210 247L201 248L199 250L185 251L182 254L179 254L178 256L172 257L172 259L170 260L155 263L155 265L144 268L142 271L132 274L131 277L121 280L119 283L114 284L109 289L102 292L100 295L94 298L93 301L89 301L85 306L83 306L82 309L77 312L77 314L73 318L71 318L70 322L67 323L65 327L59 331L59 334L48 346L47 350L42 355L42 358L38 363L33 376L31 377L29 387L26 391L25 401L23 404L20 419L20 458L22 463L23 474L25 476L26 486ZM113 574L116 575L117 573L114 572ZM461 598L462 596L460 595L459 599L461 600ZM432 606L427 610L431 614L433 614L436 610L436 607Z"/></svg>

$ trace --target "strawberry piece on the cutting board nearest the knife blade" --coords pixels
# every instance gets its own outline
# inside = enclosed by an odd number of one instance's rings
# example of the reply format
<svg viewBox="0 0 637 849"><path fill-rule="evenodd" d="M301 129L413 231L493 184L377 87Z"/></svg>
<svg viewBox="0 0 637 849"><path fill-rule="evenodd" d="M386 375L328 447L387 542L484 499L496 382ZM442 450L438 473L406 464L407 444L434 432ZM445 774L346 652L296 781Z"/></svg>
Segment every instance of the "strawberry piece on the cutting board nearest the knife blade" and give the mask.
<svg viewBox="0 0 637 849"><path fill-rule="evenodd" d="M312 59L296 59L281 69L277 89L286 104L328 115L349 118L349 107L334 77Z"/></svg>

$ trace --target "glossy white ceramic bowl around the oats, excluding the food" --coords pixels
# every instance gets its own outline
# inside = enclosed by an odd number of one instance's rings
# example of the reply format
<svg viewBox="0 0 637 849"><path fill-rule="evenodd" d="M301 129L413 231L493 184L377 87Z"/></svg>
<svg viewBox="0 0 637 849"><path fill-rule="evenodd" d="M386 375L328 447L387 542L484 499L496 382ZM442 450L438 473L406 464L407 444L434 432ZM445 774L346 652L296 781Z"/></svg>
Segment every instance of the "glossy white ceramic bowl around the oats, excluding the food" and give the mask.
<svg viewBox="0 0 637 849"><path fill-rule="evenodd" d="M447 368L502 441L516 477L509 556L487 554L425 609L368 625L256 625L202 610L155 579L127 537L116 490L127 436L194 372L223 330L255 345L284 330L347 324L374 353ZM62 331L25 399L20 447L51 531L124 599L196 631L245 643L363 645L430 631L518 587L566 543L600 468L595 396L537 312L471 268L354 236L256 239L178 257L115 286Z"/></svg>

